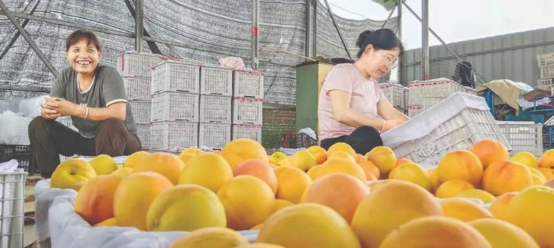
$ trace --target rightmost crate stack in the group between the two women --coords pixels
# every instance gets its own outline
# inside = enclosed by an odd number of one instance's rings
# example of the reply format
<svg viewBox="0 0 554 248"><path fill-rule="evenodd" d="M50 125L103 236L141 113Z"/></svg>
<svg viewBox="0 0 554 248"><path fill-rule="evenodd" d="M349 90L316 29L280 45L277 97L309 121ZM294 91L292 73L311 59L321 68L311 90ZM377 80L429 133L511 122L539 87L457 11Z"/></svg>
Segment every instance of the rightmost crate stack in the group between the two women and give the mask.
<svg viewBox="0 0 554 248"><path fill-rule="evenodd" d="M264 74L256 70L233 70L233 125L231 138L262 142Z"/></svg>

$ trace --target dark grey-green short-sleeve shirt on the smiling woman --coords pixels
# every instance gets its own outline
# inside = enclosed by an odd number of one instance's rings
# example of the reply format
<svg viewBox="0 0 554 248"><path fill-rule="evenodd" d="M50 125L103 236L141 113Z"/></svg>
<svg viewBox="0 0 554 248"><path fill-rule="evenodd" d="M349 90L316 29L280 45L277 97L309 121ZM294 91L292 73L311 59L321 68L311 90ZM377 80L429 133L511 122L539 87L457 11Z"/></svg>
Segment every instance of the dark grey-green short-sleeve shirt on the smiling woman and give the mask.
<svg viewBox="0 0 554 248"><path fill-rule="evenodd" d="M79 90L77 72L71 67L65 68L57 77L50 95L62 97L75 104L87 104L92 108L105 108L116 102L127 103L123 79L117 73L117 70L110 66L98 66L91 86L84 92ZM71 120L73 120L73 125L79 130L82 137L93 138L96 136L96 130L100 122L84 120L82 117L75 116L71 116ZM127 104L124 123L129 133L136 133L136 124L129 104Z"/></svg>

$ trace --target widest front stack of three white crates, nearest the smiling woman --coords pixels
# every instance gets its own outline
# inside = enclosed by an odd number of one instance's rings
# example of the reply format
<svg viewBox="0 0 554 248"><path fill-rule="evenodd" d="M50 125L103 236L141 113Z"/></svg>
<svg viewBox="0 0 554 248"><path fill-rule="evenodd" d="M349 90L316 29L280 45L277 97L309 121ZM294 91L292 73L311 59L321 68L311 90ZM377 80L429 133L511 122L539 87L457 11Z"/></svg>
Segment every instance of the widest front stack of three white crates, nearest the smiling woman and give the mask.
<svg viewBox="0 0 554 248"><path fill-rule="evenodd" d="M200 66L168 59L152 68L150 150L198 146Z"/></svg>

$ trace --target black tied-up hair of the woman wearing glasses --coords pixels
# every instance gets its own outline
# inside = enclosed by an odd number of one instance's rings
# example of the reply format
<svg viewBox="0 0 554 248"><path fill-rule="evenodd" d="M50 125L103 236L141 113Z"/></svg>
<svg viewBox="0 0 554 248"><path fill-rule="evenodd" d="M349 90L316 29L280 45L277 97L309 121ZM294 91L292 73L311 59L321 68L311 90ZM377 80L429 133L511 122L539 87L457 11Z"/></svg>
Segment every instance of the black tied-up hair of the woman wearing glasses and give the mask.
<svg viewBox="0 0 554 248"><path fill-rule="evenodd" d="M375 50L392 50L393 48L400 49L400 55L404 54L404 46L393 30L381 28L375 31L365 30L359 34L356 46L359 47L358 57L364 53L368 45L373 46Z"/></svg>

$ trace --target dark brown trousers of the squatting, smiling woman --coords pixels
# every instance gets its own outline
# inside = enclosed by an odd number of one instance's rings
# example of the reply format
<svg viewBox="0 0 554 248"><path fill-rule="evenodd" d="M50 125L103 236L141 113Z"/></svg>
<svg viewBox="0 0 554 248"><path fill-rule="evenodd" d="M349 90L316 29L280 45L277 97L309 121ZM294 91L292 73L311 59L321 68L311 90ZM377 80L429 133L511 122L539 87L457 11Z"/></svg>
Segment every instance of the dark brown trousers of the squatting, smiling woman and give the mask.
<svg viewBox="0 0 554 248"><path fill-rule="evenodd" d="M37 167L44 178L50 178L60 164L60 154L107 154L113 157L141 150L139 137L129 133L125 124L115 118L100 122L96 136L89 139L60 122L35 117L29 124L29 140Z"/></svg>

